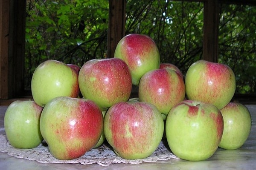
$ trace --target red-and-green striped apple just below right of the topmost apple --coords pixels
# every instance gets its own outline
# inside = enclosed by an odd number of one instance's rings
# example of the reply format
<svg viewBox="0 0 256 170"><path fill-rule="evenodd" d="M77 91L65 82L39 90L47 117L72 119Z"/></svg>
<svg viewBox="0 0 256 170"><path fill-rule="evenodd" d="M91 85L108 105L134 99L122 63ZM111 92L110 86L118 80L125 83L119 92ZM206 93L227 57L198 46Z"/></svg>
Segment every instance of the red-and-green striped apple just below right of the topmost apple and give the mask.
<svg viewBox="0 0 256 170"><path fill-rule="evenodd" d="M155 105L166 119L171 108L185 98L183 76L171 69L148 71L140 79L138 94L140 101Z"/></svg>

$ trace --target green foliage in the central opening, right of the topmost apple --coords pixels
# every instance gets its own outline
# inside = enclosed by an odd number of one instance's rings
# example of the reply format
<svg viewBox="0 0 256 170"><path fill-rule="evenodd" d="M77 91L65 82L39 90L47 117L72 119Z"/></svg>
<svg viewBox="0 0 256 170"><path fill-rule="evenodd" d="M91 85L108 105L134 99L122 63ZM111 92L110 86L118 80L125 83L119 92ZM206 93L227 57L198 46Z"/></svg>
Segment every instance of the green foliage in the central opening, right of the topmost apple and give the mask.
<svg viewBox="0 0 256 170"><path fill-rule="evenodd" d="M203 7L196 2L129 0L126 34L149 35L159 48L161 62L175 64L185 74L202 57Z"/></svg>

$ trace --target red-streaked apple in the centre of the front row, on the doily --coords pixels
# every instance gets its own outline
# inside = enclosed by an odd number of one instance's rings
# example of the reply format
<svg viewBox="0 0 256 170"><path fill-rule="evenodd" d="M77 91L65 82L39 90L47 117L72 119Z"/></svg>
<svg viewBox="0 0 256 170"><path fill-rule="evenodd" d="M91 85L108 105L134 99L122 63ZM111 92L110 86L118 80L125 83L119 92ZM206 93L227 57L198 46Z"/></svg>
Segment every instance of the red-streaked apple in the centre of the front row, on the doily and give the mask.
<svg viewBox="0 0 256 170"><path fill-rule="evenodd" d="M143 159L150 156L163 137L160 111L146 102L119 102L108 109L104 133L117 156Z"/></svg>

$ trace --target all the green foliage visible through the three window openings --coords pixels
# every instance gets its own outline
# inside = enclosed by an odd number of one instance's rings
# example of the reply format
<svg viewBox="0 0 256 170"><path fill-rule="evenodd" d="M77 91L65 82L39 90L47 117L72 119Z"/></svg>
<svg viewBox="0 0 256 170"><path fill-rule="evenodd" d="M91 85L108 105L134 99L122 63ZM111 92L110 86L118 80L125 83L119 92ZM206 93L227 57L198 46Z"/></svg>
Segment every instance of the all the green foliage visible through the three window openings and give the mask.
<svg viewBox="0 0 256 170"><path fill-rule="evenodd" d="M47 59L79 66L106 57L108 0L27 0L26 87L33 71ZM229 65L237 93L256 93L256 7L221 5L218 62ZM126 34L149 35L161 62L183 74L203 51L204 3L127 0Z"/></svg>

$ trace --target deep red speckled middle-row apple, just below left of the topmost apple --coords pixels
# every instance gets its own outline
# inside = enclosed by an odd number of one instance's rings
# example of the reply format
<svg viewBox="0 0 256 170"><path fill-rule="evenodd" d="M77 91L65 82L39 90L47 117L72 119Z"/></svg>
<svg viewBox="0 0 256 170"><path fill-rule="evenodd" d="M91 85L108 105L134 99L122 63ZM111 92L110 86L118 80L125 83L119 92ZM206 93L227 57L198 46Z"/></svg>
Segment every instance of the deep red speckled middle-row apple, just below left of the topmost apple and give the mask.
<svg viewBox="0 0 256 170"><path fill-rule="evenodd" d="M84 98L93 100L104 111L117 102L128 101L131 73L122 59L91 59L79 71L79 87Z"/></svg>

